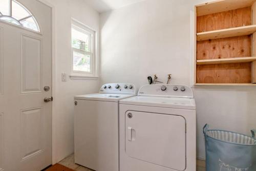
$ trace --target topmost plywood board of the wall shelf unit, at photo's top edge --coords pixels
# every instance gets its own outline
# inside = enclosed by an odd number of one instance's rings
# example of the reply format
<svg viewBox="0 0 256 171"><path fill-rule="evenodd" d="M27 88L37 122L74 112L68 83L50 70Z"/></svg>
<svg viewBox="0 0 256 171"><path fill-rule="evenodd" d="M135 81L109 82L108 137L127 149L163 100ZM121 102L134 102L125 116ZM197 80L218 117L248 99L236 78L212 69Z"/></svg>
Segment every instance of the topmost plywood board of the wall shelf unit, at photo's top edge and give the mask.
<svg viewBox="0 0 256 171"><path fill-rule="evenodd" d="M196 6L197 16L252 6L256 0L220 0Z"/></svg>

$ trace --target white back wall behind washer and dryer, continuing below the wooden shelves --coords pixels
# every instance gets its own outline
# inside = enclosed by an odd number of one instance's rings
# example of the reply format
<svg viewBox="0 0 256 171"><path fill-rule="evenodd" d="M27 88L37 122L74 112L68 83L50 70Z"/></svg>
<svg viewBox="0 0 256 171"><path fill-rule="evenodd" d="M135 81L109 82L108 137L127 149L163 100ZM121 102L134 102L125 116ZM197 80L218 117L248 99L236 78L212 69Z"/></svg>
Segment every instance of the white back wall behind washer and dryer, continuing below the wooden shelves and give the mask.
<svg viewBox="0 0 256 171"><path fill-rule="evenodd" d="M203 0L147 0L100 15L101 83L133 82L148 75L190 83L190 10ZM256 127L255 87L196 87L197 152L204 158L202 127L249 134ZM188 142L189 143L189 142Z"/></svg>

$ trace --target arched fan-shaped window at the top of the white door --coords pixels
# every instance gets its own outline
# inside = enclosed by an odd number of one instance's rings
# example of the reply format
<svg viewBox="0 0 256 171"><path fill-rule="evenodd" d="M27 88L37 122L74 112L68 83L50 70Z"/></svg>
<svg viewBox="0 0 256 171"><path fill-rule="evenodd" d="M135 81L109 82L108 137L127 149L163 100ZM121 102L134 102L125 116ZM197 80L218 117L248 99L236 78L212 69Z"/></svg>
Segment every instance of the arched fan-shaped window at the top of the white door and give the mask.
<svg viewBox="0 0 256 171"><path fill-rule="evenodd" d="M0 20L39 32L35 17L22 4L14 0L0 0Z"/></svg>

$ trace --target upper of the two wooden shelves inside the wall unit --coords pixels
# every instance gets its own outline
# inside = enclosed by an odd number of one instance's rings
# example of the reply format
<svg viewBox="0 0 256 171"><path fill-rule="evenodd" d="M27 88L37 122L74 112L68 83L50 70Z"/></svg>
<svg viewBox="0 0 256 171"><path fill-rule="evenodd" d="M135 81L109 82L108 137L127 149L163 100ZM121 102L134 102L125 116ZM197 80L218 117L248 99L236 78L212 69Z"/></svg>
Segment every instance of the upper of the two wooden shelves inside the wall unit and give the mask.
<svg viewBox="0 0 256 171"><path fill-rule="evenodd" d="M197 41L250 35L256 32L256 25L197 33Z"/></svg>

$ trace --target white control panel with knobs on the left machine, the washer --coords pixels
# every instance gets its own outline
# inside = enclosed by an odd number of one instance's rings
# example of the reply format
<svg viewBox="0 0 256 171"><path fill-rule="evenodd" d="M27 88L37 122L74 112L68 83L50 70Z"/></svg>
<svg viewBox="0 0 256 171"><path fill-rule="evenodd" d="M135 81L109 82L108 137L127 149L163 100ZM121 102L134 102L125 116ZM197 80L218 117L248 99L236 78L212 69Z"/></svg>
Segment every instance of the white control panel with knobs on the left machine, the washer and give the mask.
<svg viewBox="0 0 256 171"><path fill-rule="evenodd" d="M99 93L136 94L136 87L132 83L106 83L101 86Z"/></svg>

